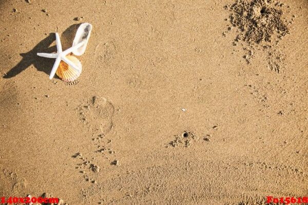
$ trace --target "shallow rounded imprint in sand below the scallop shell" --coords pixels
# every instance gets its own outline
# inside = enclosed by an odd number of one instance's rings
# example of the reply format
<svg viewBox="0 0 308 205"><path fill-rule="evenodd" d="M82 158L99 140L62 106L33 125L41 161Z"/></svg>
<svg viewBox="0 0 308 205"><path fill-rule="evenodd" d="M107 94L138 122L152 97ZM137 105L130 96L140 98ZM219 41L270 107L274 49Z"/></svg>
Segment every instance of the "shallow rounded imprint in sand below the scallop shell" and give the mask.
<svg viewBox="0 0 308 205"><path fill-rule="evenodd" d="M94 96L78 108L80 121L92 135L107 134L113 127L114 107L104 97Z"/></svg>

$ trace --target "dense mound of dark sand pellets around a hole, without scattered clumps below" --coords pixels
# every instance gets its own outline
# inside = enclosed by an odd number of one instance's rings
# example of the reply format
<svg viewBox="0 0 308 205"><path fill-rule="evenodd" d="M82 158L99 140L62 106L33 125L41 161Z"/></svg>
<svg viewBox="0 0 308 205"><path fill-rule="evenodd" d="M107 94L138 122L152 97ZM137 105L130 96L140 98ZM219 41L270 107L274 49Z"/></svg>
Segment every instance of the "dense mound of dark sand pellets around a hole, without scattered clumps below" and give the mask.
<svg viewBox="0 0 308 205"><path fill-rule="evenodd" d="M288 33L288 27L282 20L282 11L271 0L238 0L230 7L230 21L241 32L238 39L259 44L263 40L271 42L272 36L277 37Z"/></svg>

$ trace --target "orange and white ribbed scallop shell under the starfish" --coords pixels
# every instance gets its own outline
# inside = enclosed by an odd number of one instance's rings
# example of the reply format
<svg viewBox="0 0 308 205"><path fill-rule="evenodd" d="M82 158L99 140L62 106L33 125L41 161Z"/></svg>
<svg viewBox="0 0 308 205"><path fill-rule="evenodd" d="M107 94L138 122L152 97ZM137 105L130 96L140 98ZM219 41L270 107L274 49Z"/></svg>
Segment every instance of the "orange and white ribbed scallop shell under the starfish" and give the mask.
<svg viewBox="0 0 308 205"><path fill-rule="evenodd" d="M75 56L71 56L68 55L66 56L70 61L72 61L76 66L78 66L78 68L80 68L79 70L75 70L72 67L70 67L69 65L67 65L64 61L61 60L60 65L58 67L58 69L56 70L55 74L62 79L65 82L71 82L74 81L75 79L77 79L82 71L82 65L79 61L78 58L76 58Z"/></svg>

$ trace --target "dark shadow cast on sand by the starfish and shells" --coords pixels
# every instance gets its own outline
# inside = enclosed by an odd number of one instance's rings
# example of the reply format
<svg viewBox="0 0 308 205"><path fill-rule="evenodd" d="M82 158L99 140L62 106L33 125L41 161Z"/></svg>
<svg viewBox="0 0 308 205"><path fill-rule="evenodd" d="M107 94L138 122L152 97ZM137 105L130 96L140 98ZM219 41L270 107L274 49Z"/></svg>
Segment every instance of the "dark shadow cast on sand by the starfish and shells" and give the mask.
<svg viewBox="0 0 308 205"><path fill-rule="evenodd" d="M74 35L76 30L78 29L80 24L74 24L68 27L61 35L61 43L62 48L66 49L71 47ZM43 39L40 43L38 43L32 50L27 53L20 53L23 59L13 68L11 68L3 78L11 78L14 77L31 65L33 65L37 71L42 71L49 75L52 66L54 64L54 59L52 58L44 58L37 56L37 53L52 53L56 52L56 46L50 45L55 41L55 34L49 33L49 35Z"/></svg>

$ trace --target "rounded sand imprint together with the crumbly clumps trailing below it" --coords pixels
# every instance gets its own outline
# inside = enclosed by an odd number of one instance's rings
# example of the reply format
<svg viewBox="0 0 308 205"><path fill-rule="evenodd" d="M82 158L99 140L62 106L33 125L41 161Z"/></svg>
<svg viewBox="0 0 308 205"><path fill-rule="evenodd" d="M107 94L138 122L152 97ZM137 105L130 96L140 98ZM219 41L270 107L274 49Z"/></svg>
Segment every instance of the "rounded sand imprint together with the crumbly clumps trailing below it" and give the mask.
<svg viewBox="0 0 308 205"><path fill-rule="evenodd" d="M108 156L114 154L110 147L111 139L106 138L106 134L113 127L114 107L106 98L94 96L86 99L76 110L79 112L80 121L92 137L95 151L86 154L86 156L83 156L80 152L74 154L73 158L81 160L77 163L75 169L79 170L86 181L97 183L96 173L100 172L100 167L96 162L94 163L95 159L98 156L103 156L110 161Z"/></svg>

